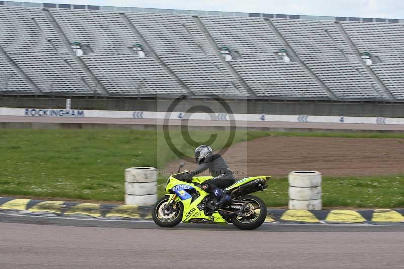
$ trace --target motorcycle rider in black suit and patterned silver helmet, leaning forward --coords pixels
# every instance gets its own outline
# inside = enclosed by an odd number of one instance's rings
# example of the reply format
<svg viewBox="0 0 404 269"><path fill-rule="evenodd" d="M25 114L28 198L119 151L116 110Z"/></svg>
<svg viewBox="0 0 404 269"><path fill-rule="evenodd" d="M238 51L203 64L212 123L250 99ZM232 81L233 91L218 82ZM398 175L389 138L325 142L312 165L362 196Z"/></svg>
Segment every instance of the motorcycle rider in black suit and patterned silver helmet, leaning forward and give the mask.
<svg viewBox="0 0 404 269"><path fill-rule="evenodd" d="M194 171L183 174L180 179L190 180L195 175L209 169L213 178L203 182L202 188L219 200L216 207L221 207L230 201L230 195L224 193L223 189L233 184L236 179L222 156L213 153L209 145L200 145L195 149L195 159L199 166Z"/></svg>

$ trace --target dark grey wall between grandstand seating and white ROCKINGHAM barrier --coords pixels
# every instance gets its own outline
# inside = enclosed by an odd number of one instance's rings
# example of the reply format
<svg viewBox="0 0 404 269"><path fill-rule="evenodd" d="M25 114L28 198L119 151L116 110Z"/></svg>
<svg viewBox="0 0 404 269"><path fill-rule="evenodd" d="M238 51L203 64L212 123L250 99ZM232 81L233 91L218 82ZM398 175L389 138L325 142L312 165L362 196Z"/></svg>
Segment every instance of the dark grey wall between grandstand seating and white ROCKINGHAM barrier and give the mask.
<svg viewBox="0 0 404 269"><path fill-rule="evenodd" d="M0 95L0 107L38 107L64 108L66 96L8 96ZM166 111L173 98L85 98L71 96L74 109L90 110L136 110ZM201 103L199 99L188 99L181 102L175 111L187 111L190 107ZM271 114L271 115L330 115L357 117L404 117L404 102L330 102L330 101L299 101L299 100L226 100L233 113ZM225 113L216 101L204 99L203 104L217 113Z"/></svg>

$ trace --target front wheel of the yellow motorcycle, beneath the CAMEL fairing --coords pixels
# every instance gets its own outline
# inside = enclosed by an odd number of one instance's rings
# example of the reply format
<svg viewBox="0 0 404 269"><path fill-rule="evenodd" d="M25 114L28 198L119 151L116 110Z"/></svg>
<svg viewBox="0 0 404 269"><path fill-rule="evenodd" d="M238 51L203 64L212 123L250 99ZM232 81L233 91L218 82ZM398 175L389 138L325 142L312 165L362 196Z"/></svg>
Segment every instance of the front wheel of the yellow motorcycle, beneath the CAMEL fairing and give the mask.
<svg viewBox="0 0 404 269"><path fill-rule="evenodd" d="M153 211L151 211L151 218L160 227L174 227L182 220L184 205L180 202L175 203L175 209L167 212L164 206L167 204L168 199L168 196L160 198L153 206Z"/></svg>

